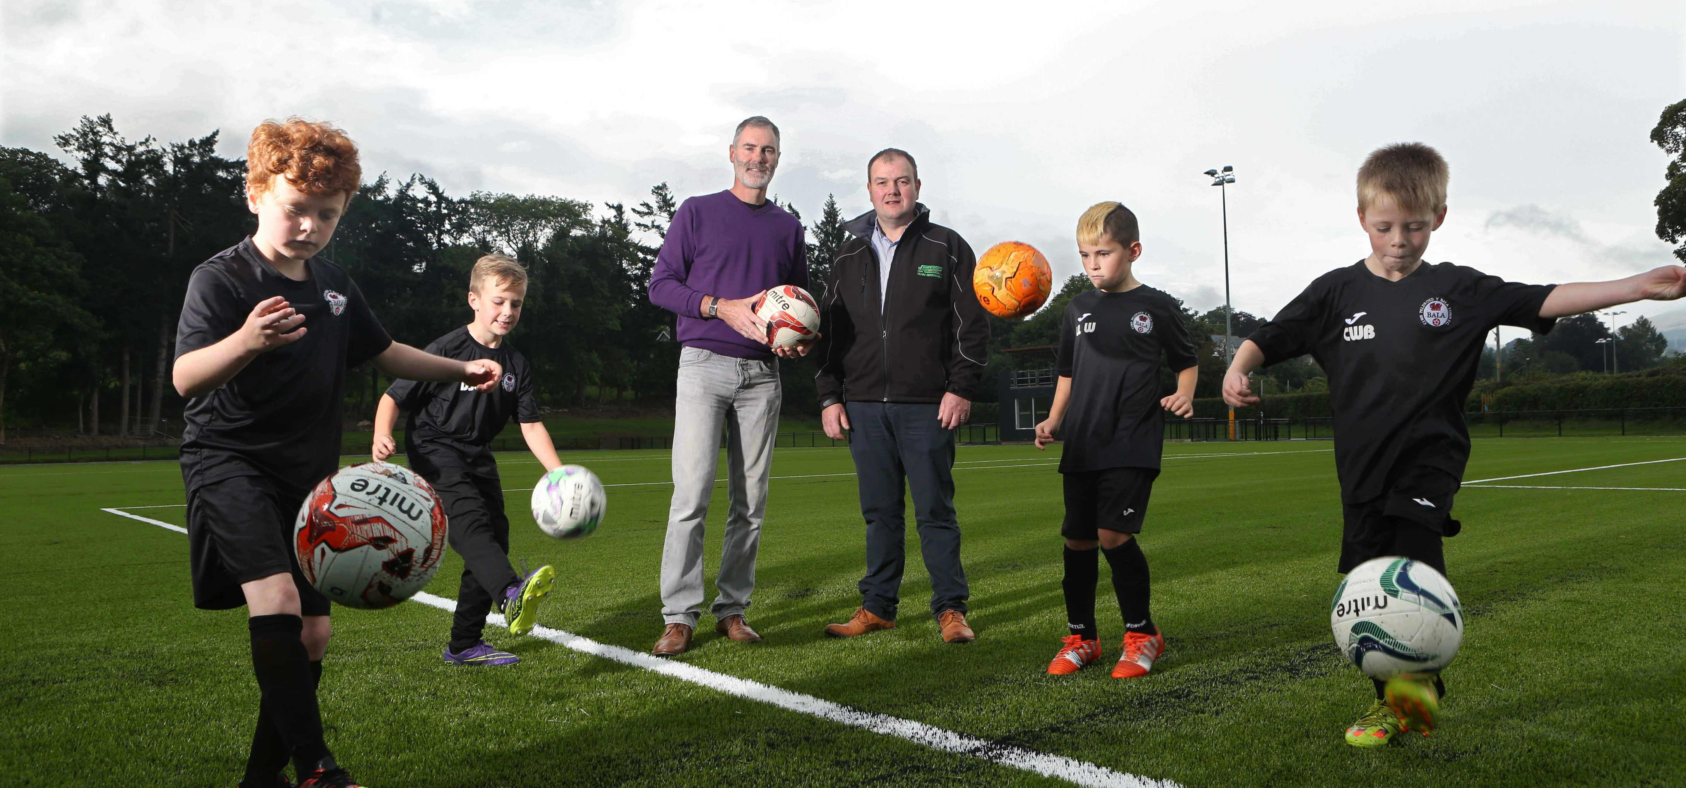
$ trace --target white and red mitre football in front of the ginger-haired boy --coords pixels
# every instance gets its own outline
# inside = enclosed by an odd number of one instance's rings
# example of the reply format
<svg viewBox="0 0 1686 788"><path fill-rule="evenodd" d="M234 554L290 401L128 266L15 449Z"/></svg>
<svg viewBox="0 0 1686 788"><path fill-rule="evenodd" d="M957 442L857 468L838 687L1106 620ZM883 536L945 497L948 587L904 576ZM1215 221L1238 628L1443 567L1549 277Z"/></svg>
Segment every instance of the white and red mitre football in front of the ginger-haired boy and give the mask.
<svg viewBox="0 0 1686 788"><path fill-rule="evenodd" d="M334 471L293 522L305 581L347 608L391 608L422 591L445 556L433 485L393 463Z"/></svg>

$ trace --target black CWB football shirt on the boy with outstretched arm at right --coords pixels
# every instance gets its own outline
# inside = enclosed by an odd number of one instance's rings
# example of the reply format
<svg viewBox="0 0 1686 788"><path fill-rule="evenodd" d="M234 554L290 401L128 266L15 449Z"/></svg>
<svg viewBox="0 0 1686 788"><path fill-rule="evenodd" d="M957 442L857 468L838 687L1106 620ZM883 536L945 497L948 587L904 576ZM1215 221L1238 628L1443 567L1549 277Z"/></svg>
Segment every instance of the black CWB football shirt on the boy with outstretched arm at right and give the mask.
<svg viewBox="0 0 1686 788"><path fill-rule="evenodd" d="M1452 263L1423 263L1399 281L1364 261L1312 281L1249 340L1264 364L1312 354L1329 375L1340 498L1364 503L1413 466L1463 478L1463 401L1487 332L1546 333L1539 308L1556 285L1521 285Z"/></svg>

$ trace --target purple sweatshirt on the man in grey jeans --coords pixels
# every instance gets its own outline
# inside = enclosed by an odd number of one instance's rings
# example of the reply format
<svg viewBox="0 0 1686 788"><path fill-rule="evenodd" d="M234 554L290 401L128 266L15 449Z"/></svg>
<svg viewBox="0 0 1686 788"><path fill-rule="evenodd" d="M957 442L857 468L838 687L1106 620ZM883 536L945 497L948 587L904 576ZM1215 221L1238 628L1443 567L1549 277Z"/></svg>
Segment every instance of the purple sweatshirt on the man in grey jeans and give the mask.
<svg viewBox="0 0 1686 788"><path fill-rule="evenodd" d="M691 197L673 214L649 276L649 300L679 315L681 345L733 359L772 359L765 342L725 320L700 317L703 295L749 298L779 285L808 288L803 222L767 200L750 205L730 190Z"/></svg>

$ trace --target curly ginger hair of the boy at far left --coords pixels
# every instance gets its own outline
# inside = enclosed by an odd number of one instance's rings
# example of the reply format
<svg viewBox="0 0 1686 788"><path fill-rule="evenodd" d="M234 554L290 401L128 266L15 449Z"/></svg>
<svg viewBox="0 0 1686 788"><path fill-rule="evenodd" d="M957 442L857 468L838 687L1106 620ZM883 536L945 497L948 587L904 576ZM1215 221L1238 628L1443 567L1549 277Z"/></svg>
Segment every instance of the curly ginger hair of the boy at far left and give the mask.
<svg viewBox="0 0 1686 788"><path fill-rule="evenodd" d="M330 123L310 123L303 118L263 121L251 130L246 146L246 190L263 194L277 175L293 189L314 195L357 194L362 165L357 163L357 145L346 131Z"/></svg>

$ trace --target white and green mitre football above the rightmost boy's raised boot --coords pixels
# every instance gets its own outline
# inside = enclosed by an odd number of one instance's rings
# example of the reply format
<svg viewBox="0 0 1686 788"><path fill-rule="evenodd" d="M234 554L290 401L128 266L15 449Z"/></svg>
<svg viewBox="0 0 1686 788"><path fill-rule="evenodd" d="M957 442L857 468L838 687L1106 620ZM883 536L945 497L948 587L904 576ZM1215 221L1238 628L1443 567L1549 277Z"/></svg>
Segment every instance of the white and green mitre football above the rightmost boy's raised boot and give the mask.
<svg viewBox="0 0 1686 788"><path fill-rule="evenodd" d="M1329 626L1347 660L1371 679L1433 674L1463 645L1463 606L1428 564L1379 557L1340 581Z"/></svg>

